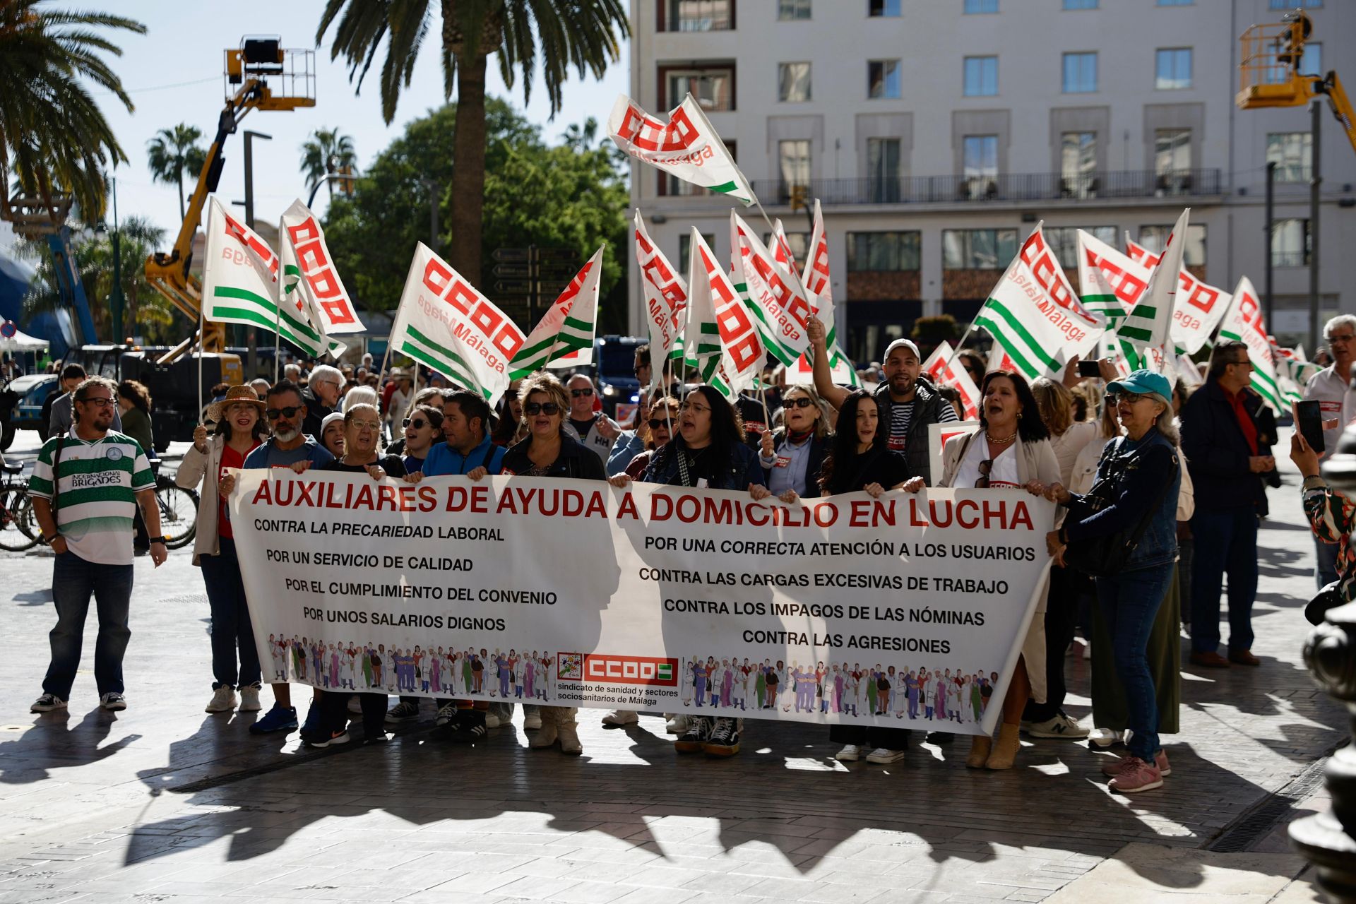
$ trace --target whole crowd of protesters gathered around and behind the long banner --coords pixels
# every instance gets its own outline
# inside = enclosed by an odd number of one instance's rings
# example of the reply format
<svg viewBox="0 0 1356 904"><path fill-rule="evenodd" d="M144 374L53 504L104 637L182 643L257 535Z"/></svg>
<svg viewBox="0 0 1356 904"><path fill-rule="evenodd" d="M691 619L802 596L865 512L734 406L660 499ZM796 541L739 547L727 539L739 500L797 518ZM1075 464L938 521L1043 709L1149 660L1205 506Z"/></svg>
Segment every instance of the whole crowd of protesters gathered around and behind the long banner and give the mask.
<svg viewBox="0 0 1356 904"><path fill-rule="evenodd" d="M422 378L397 369L378 385L370 358L357 367L319 365L309 373L287 365L277 382L214 388L210 426L194 432L176 477L179 485L201 492L194 564L203 571L212 609L207 712L260 710L262 683L278 679L271 683L271 707L251 732L300 726L305 743L327 747L348 741L350 717L358 717L365 740L384 741L388 725L420 716L416 695L401 697L388 709L380 690L331 687L313 690L306 718L298 722L286 668L266 675L255 646L226 506L235 485L232 469L316 468L411 482L443 474L607 480L614 487L635 480L736 491L755 500L776 496L785 504L849 492L880 497L926 487L1012 488L1056 503L1047 534L1052 568L1006 697L994 701L1002 712L997 733L974 737L965 766L1012 768L1025 732L1033 739L1089 739L1101 748L1124 744L1127 755L1104 768L1111 787L1132 793L1162 786L1170 774L1162 737L1178 728L1181 625L1189 628L1192 665L1257 667L1261 661L1252 652L1257 527L1267 515L1267 491L1280 481L1272 455L1276 423L1249 388L1248 347L1216 344L1195 392L1147 370L1117 378L1109 361L1100 362L1098 378L1081 377L1075 359L1063 378L1028 384L1009 370L986 370L980 355L961 350L957 358L980 389L979 424L945 443L941 473L933 473L928 427L956 422L959 405L948 388L922 374L918 347L894 340L879 373L866 374L879 378L877 386L850 389L831 379L823 325L811 319L808 332L812 385L784 385L767 396L735 400L708 385L685 385L667 369L651 379L654 362L641 347L635 362L641 389L625 424L603 413L584 373L564 381L545 371L533 374L515 382L494 411L481 396L450 388L435 375ZM1326 455L1336 446L1338 426L1356 416L1356 394L1344 378L1356 358L1356 317L1329 321L1325 337L1334 363L1306 392L1330 415ZM52 416L62 430L43 446L31 481L43 535L58 553L52 667L33 709L65 707L91 595L99 603L99 691L106 707L121 709L126 705L121 659L129 637L130 533L138 507L155 561L164 560L155 506L146 504L151 398L137 384L115 388L75 370L61 377L66 394L53 405ZM1304 476L1318 583L1332 584L1341 599L1351 600L1356 595L1356 552L1349 543L1353 506L1323 484L1318 476L1322 455L1299 434L1291 451ZM115 493L96 501L84 499L79 488L62 489L69 474L95 458L113 474ZM98 518L99 526L81 527L89 518ZM1124 546L1130 552L1113 569L1098 573L1083 564L1089 549L1124 535L1132 537ZM1222 638L1226 592L1229 634ZM1066 653L1079 649L1079 632L1092 659L1090 725L1064 712ZM275 655L267 651L266 659ZM491 659L484 651L469 656L466 686L472 686L472 670L473 686L480 687L490 678L481 672L498 670L502 679L503 670L519 667L519 659L498 653ZM396 668L400 660L400 651L372 651L363 667L377 680L369 680L369 687L380 689L381 670ZM808 675L822 687L820 672ZM803 676L792 678L780 663L761 670L758 701L774 705L778 684ZM959 713L971 706L978 720L997 675L953 679L949 672L896 675L891 668L843 680L858 687L868 678L872 705L888 706L884 701L894 683L896 706L903 707L907 698L911 710L921 699L929 710L961 721ZM946 694L959 702L944 702ZM453 741L475 744L513 716L511 703L491 706L453 695L433 702L435 735ZM637 714L613 710L602 721L624 726L635 724ZM534 748L583 749L575 709L525 706L523 726L536 732ZM776 729L765 724L761 731ZM669 732L677 735L678 752L732 756L740 749L744 720L677 714L669 720ZM845 762L899 762L909 735L888 726L835 725L830 731L830 739L842 745L837 759ZM940 732L928 737L934 743L949 739Z"/></svg>

